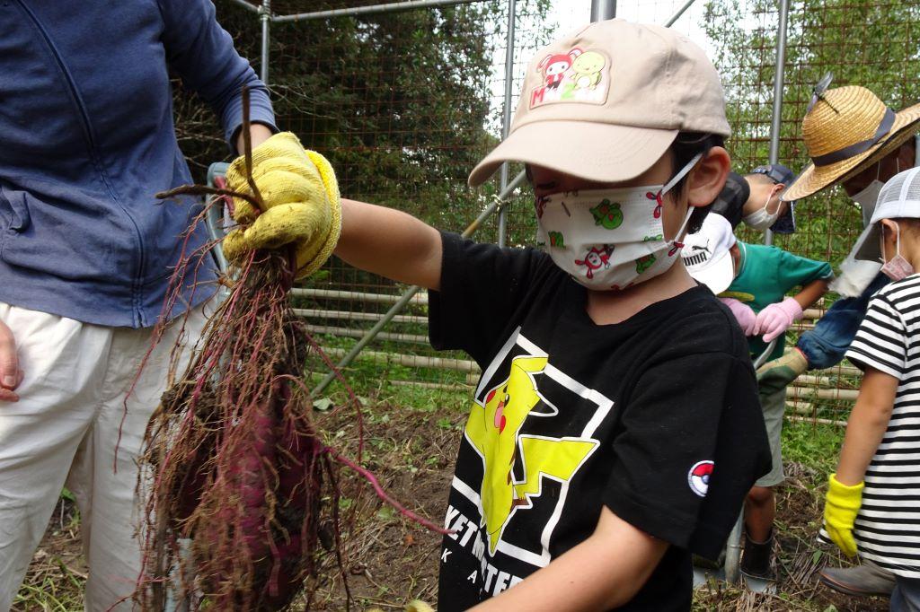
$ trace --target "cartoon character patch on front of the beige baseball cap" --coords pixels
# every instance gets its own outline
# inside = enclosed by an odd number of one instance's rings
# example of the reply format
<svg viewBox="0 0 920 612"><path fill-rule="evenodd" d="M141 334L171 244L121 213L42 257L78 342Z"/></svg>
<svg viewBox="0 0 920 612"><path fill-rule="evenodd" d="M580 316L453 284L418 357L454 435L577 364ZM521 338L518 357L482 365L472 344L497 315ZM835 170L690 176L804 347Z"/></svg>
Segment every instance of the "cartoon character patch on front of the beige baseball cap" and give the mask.
<svg viewBox="0 0 920 612"><path fill-rule="evenodd" d="M530 108L551 102L604 104L610 86L610 62L600 51L573 47L567 53L550 53L538 64L543 76L530 92Z"/></svg>

